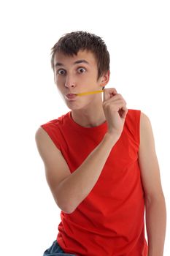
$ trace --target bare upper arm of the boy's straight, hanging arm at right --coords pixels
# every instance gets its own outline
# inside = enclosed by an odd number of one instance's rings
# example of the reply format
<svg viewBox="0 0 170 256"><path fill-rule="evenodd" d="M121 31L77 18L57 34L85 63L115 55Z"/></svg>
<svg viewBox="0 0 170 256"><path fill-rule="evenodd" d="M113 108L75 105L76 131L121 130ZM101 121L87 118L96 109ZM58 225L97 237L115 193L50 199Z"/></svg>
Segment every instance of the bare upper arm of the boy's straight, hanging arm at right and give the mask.
<svg viewBox="0 0 170 256"><path fill-rule="evenodd" d="M149 118L141 113L139 166L145 196L148 199L163 195L158 159L155 152L155 142Z"/></svg>

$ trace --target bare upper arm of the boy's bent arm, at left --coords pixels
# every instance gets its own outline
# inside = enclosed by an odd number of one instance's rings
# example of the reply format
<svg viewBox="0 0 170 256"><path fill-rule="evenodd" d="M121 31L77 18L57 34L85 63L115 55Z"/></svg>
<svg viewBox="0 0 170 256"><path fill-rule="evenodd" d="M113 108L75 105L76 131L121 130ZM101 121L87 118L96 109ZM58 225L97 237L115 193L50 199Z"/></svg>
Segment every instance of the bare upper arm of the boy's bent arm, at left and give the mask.
<svg viewBox="0 0 170 256"><path fill-rule="evenodd" d="M37 129L35 140L39 154L45 165L47 183L57 203L56 189L64 178L71 175L69 167L61 151L55 146L53 140L51 140L50 136L42 127Z"/></svg>

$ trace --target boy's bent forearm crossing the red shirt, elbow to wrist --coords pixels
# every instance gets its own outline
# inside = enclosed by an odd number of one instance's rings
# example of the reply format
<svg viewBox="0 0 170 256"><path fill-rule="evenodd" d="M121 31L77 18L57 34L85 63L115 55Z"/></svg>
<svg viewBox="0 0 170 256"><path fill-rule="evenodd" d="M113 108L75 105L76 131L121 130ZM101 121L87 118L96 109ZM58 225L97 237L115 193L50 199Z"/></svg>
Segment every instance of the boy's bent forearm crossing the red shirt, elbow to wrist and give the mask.
<svg viewBox="0 0 170 256"><path fill-rule="evenodd" d="M88 196L117 140L117 136L104 135L101 143L82 162L82 165L72 175L61 181L56 191L57 203L61 210L68 214L72 213Z"/></svg>

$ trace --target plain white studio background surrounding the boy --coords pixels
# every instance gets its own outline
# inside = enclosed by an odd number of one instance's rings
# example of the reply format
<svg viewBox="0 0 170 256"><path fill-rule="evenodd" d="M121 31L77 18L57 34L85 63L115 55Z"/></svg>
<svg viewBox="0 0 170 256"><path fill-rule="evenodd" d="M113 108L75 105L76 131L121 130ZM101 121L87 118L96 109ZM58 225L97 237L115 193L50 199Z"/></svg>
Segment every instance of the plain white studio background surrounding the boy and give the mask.
<svg viewBox="0 0 170 256"><path fill-rule="evenodd" d="M66 32L102 37L111 80L128 103L149 116L169 214L170 2L1 1L1 255L42 255L58 233L60 210L34 135L69 111L53 83L50 48ZM164 255L170 255L169 222Z"/></svg>

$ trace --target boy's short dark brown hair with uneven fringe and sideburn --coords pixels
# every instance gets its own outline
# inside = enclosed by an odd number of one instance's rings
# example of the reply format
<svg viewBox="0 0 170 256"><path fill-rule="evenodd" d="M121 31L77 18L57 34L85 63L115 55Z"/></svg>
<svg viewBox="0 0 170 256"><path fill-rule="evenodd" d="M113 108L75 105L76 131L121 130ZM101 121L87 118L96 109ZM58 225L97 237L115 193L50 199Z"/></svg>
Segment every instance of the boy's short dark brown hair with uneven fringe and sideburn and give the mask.
<svg viewBox="0 0 170 256"><path fill-rule="evenodd" d="M64 34L51 49L51 66L54 70L56 52L68 56L77 55L79 50L90 50L96 57L98 78L109 70L109 52L107 45L101 37L86 31L74 31Z"/></svg>

